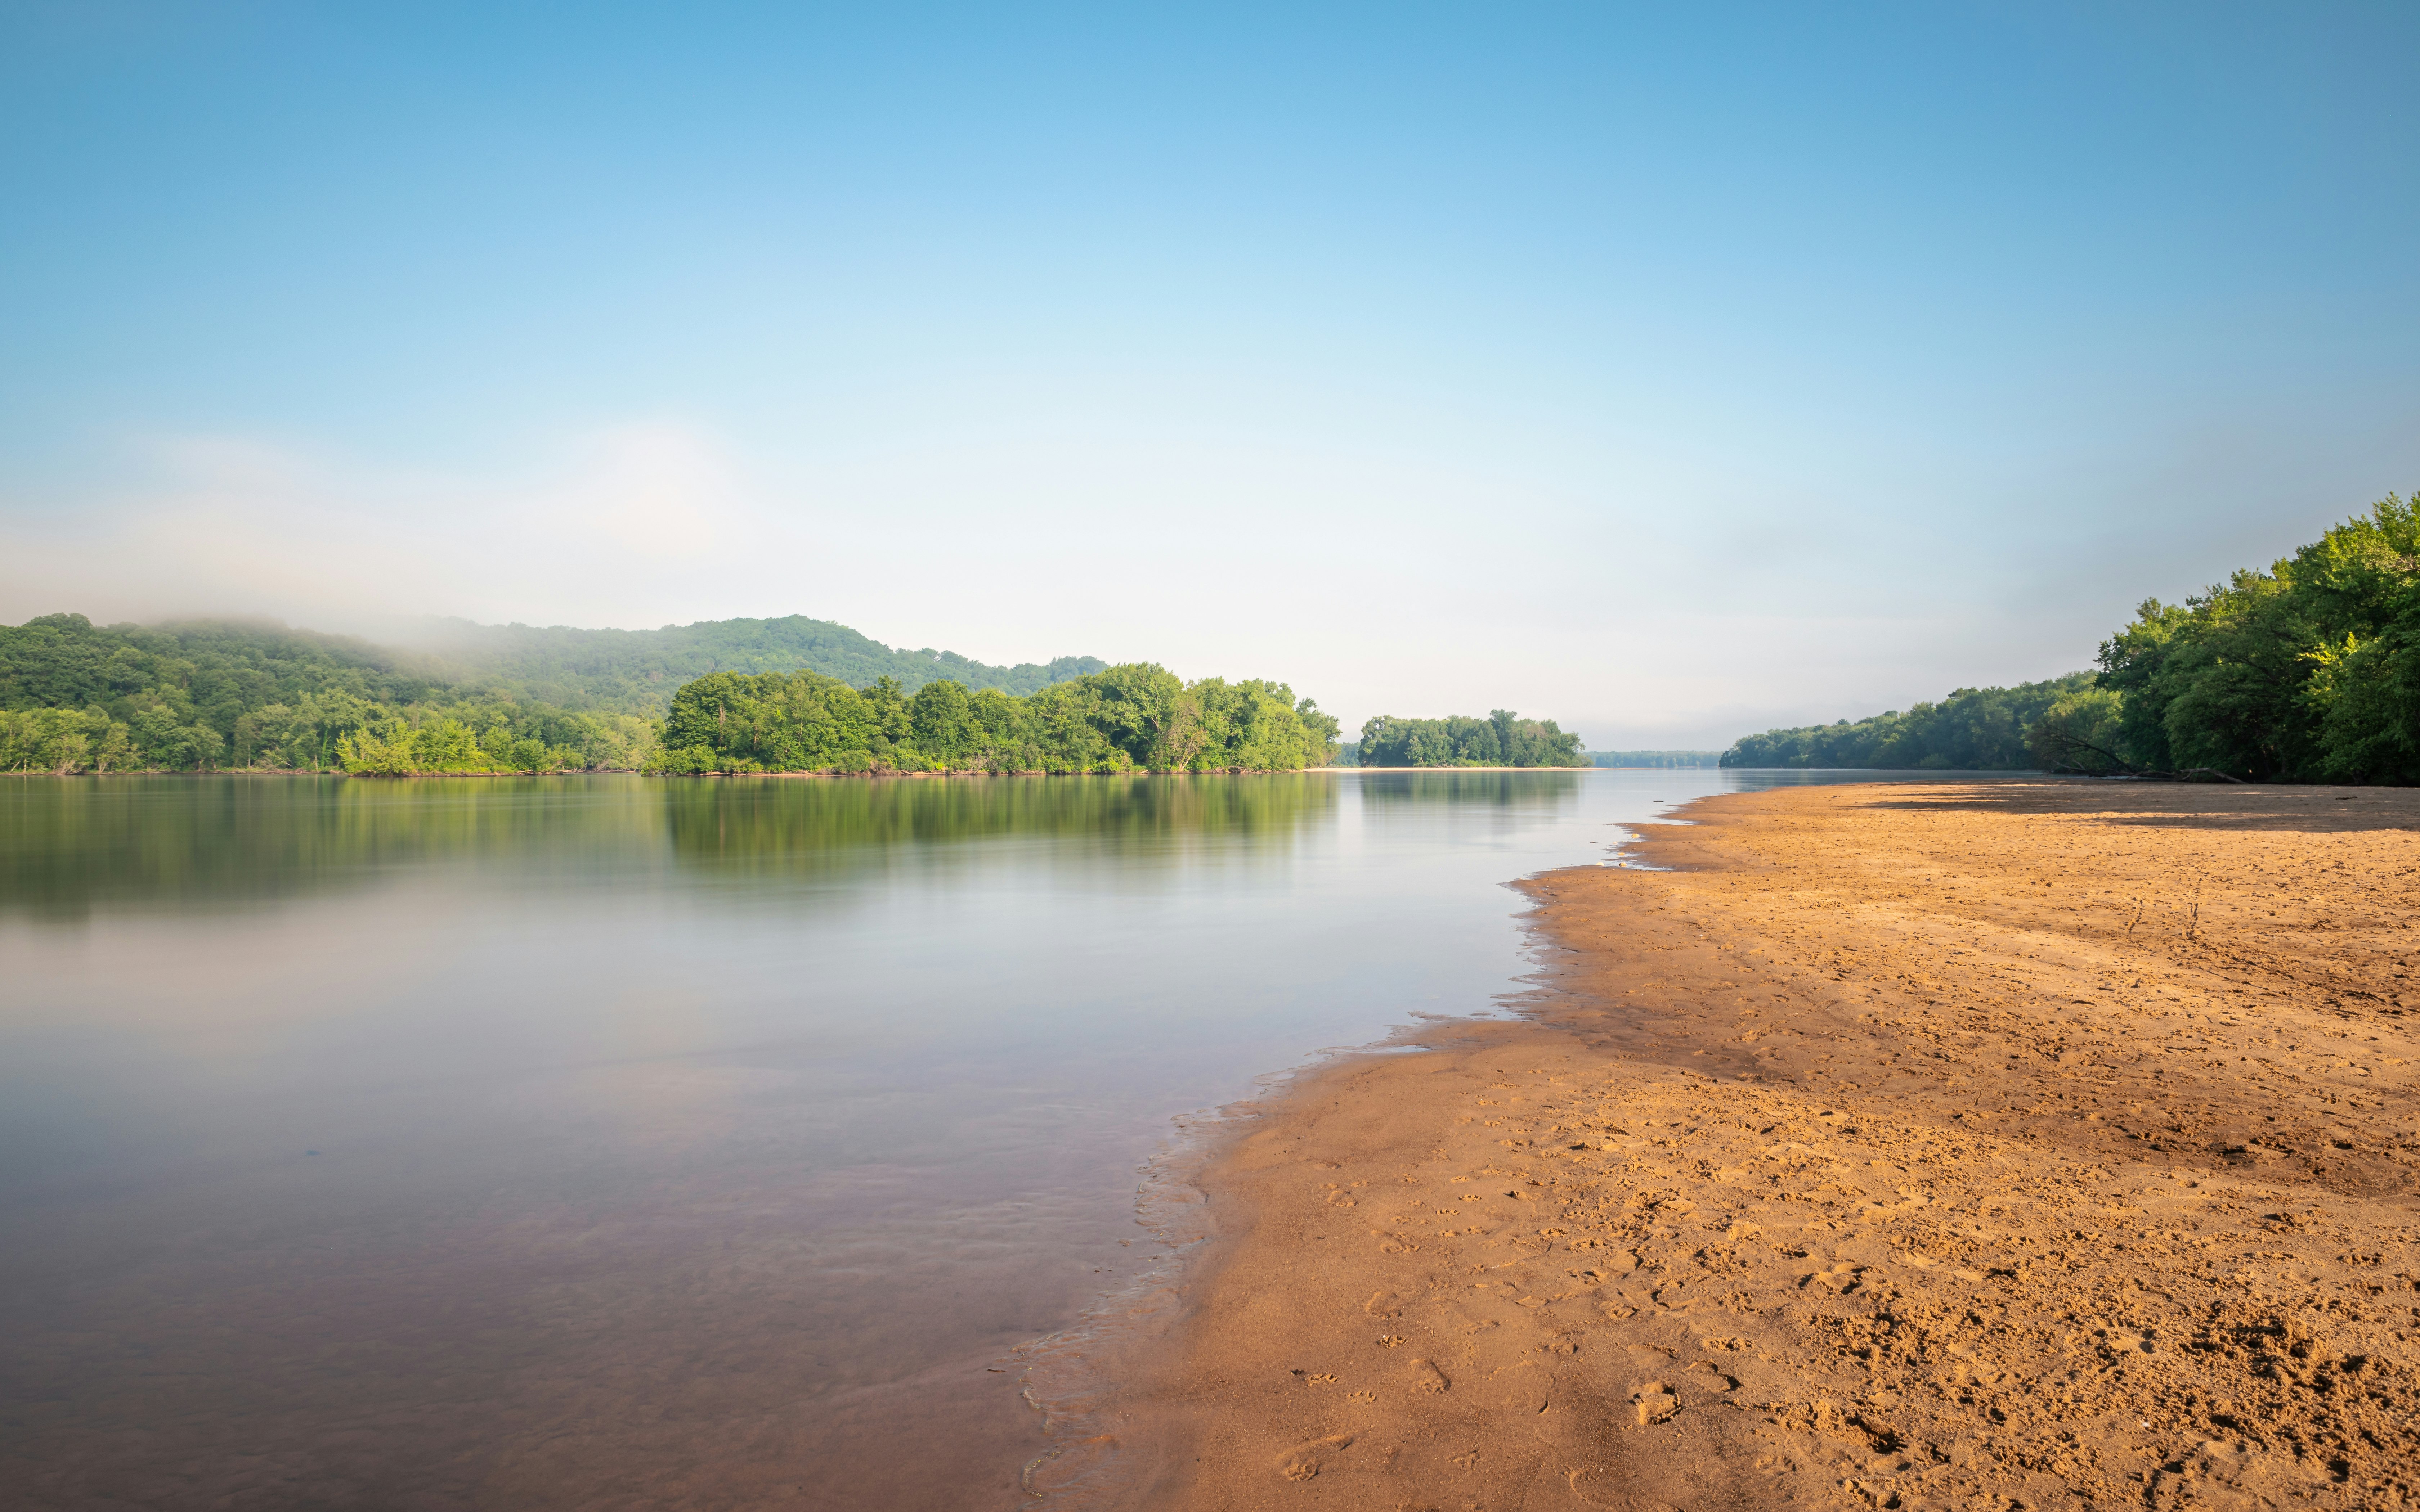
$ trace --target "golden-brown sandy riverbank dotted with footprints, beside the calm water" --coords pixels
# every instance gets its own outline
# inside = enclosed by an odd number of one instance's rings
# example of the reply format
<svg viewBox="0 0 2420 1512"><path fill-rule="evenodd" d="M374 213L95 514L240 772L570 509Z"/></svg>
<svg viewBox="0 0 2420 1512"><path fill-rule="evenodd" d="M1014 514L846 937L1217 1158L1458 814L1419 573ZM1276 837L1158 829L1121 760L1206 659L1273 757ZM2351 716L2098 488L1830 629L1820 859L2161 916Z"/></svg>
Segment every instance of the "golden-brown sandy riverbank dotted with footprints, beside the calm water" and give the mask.
<svg viewBox="0 0 2420 1512"><path fill-rule="evenodd" d="M2420 793L1684 813L1210 1166L1137 1505L2420 1495Z"/></svg>

